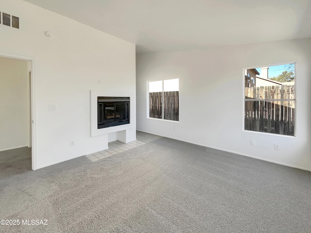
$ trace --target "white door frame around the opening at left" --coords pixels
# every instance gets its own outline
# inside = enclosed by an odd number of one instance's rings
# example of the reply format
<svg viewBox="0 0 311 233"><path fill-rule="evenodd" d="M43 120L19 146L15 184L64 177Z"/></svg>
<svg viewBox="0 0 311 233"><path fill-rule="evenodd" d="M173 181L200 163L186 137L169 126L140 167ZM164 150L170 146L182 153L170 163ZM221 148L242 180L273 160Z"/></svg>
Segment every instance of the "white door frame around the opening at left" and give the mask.
<svg viewBox="0 0 311 233"><path fill-rule="evenodd" d="M36 153L36 96L35 96L35 58L29 56L23 56L18 54L4 53L0 51L0 57L13 58L18 60L29 61L31 63L31 80L30 80L30 95L31 95L31 120L32 124L29 130L31 130L31 143L32 143L32 152L31 152L31 161L32 161L32 170L37 169L37 153ZM29 74L27 75L29 78ZM29 89L28 89L29 91Z"/></svg>

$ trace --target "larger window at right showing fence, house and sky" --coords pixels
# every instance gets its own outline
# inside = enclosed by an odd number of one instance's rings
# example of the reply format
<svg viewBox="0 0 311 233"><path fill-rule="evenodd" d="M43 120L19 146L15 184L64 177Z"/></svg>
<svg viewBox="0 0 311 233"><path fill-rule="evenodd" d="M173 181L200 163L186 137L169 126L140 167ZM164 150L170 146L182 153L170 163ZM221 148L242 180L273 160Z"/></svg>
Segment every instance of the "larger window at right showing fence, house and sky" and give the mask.
<svg viewBox="0 0 311 233"><path fill-rule="evenodd" d="M244 74L244 130L294 136L295 64L250 68Z"/></svg>

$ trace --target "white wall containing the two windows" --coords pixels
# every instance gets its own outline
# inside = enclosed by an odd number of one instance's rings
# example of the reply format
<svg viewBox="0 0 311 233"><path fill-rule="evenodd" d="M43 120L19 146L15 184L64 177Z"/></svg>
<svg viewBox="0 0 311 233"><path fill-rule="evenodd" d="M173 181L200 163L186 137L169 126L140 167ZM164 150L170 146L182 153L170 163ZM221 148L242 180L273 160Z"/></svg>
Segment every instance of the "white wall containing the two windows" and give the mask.
<svg viewBox="0 0 311 233"><path fill-rule="evenodd" d="M291 62L296 137L243 131L243 68ZM310 170L310 64L311 39L137 54L137 129ZM179 123L148 119L147 81L172 78L179 78Z"/></svg>

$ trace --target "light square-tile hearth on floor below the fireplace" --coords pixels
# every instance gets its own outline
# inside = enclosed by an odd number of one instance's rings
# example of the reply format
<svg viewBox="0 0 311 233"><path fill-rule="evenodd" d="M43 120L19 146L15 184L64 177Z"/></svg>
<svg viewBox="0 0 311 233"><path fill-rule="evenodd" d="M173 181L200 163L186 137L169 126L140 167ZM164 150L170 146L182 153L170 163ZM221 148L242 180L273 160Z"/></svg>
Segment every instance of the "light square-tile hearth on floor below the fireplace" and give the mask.
<svg viewBox="0 0 311 233"><path fill-rule="evenodd" d="M138 140L133 141L133 142L129 142L129 143L123 143L120 141L109 142L107 150L102 150L102 151L98 151L98 152L95 152L92 154L88 154L88 155L86 155L86 157L89 160L91 160L92 162L95 162L95 161L98 161L100 159L104 159L104 158L107 158L109 156L112 156L114 154L118 154L120 152L123 152L126 150L131 150L135 147L139 147L139 146L144 145L148 142L152 142L156 139L161 138L161 136L137 131L136 138Z"/></svg>

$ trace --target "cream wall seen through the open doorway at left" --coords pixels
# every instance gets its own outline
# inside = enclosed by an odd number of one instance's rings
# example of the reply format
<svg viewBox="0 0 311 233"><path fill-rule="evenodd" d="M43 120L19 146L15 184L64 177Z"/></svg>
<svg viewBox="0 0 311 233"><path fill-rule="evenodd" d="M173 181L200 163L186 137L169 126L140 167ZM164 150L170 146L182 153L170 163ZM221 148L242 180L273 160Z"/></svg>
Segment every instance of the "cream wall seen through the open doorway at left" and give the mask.
<svg viewBox="0 0 311 233"><path fill-rule="evenodd" d="M27 62L0 57L0 151L28 146Z"/></svg>

